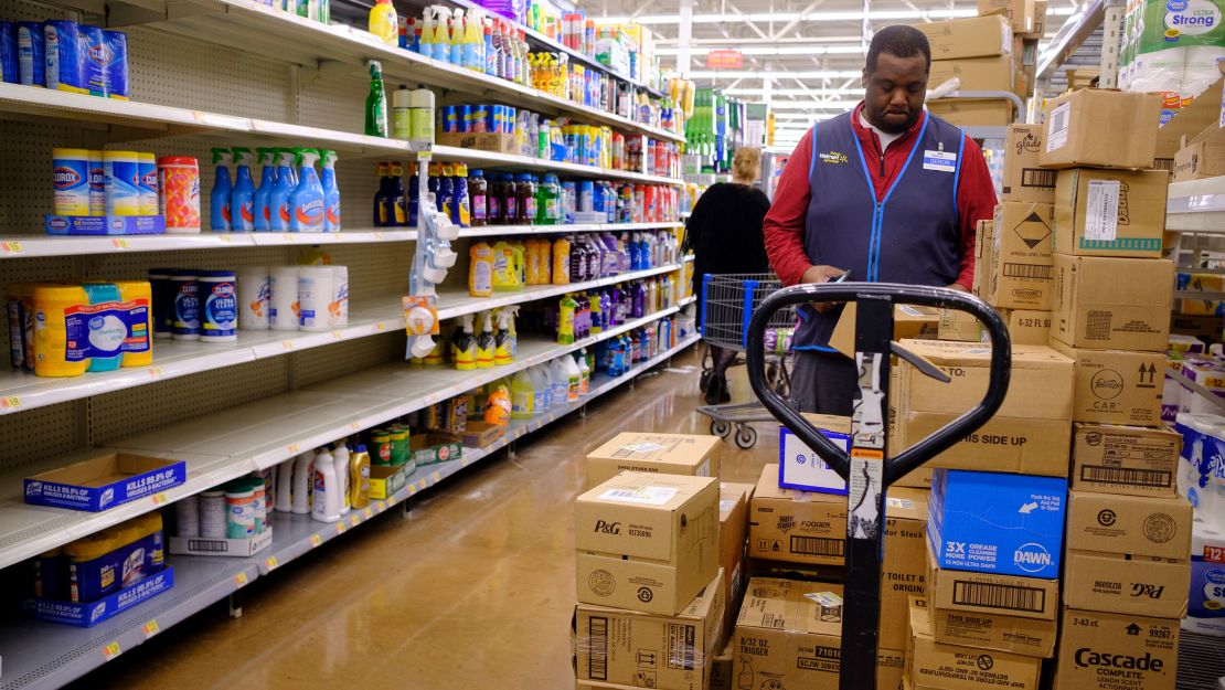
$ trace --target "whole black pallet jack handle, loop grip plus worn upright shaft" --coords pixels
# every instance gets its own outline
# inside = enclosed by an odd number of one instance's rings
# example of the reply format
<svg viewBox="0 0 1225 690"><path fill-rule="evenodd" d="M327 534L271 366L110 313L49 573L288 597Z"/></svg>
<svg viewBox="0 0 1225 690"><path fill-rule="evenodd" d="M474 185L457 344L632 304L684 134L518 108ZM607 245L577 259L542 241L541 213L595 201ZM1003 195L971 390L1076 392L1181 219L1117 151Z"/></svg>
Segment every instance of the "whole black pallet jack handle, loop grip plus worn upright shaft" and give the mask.
<svg viewBox="0 0 1225 690"><path fill-rule="evenodd" d="M764 336L779 309L807 303L858 303L855 363L859 397L854 401L850 452L821 435L766 380ZM924 374L948 382L947 374L893 342L893 306L965 311L981 321L991 337L991 373L976 407L909 449L888 452L889 360L897 355ZM748 381L762 404L816 451L848 485L846 564L843 571L843 631L840 690L876 688L877 634L881 614L881 559L884 553L884 493L894 482L974 433L991 418L1008 391L1012 344L1000 316L982 300L948 288L894 283L824 283L795 286L768 297L753 314L747 337Z"/></svg>

